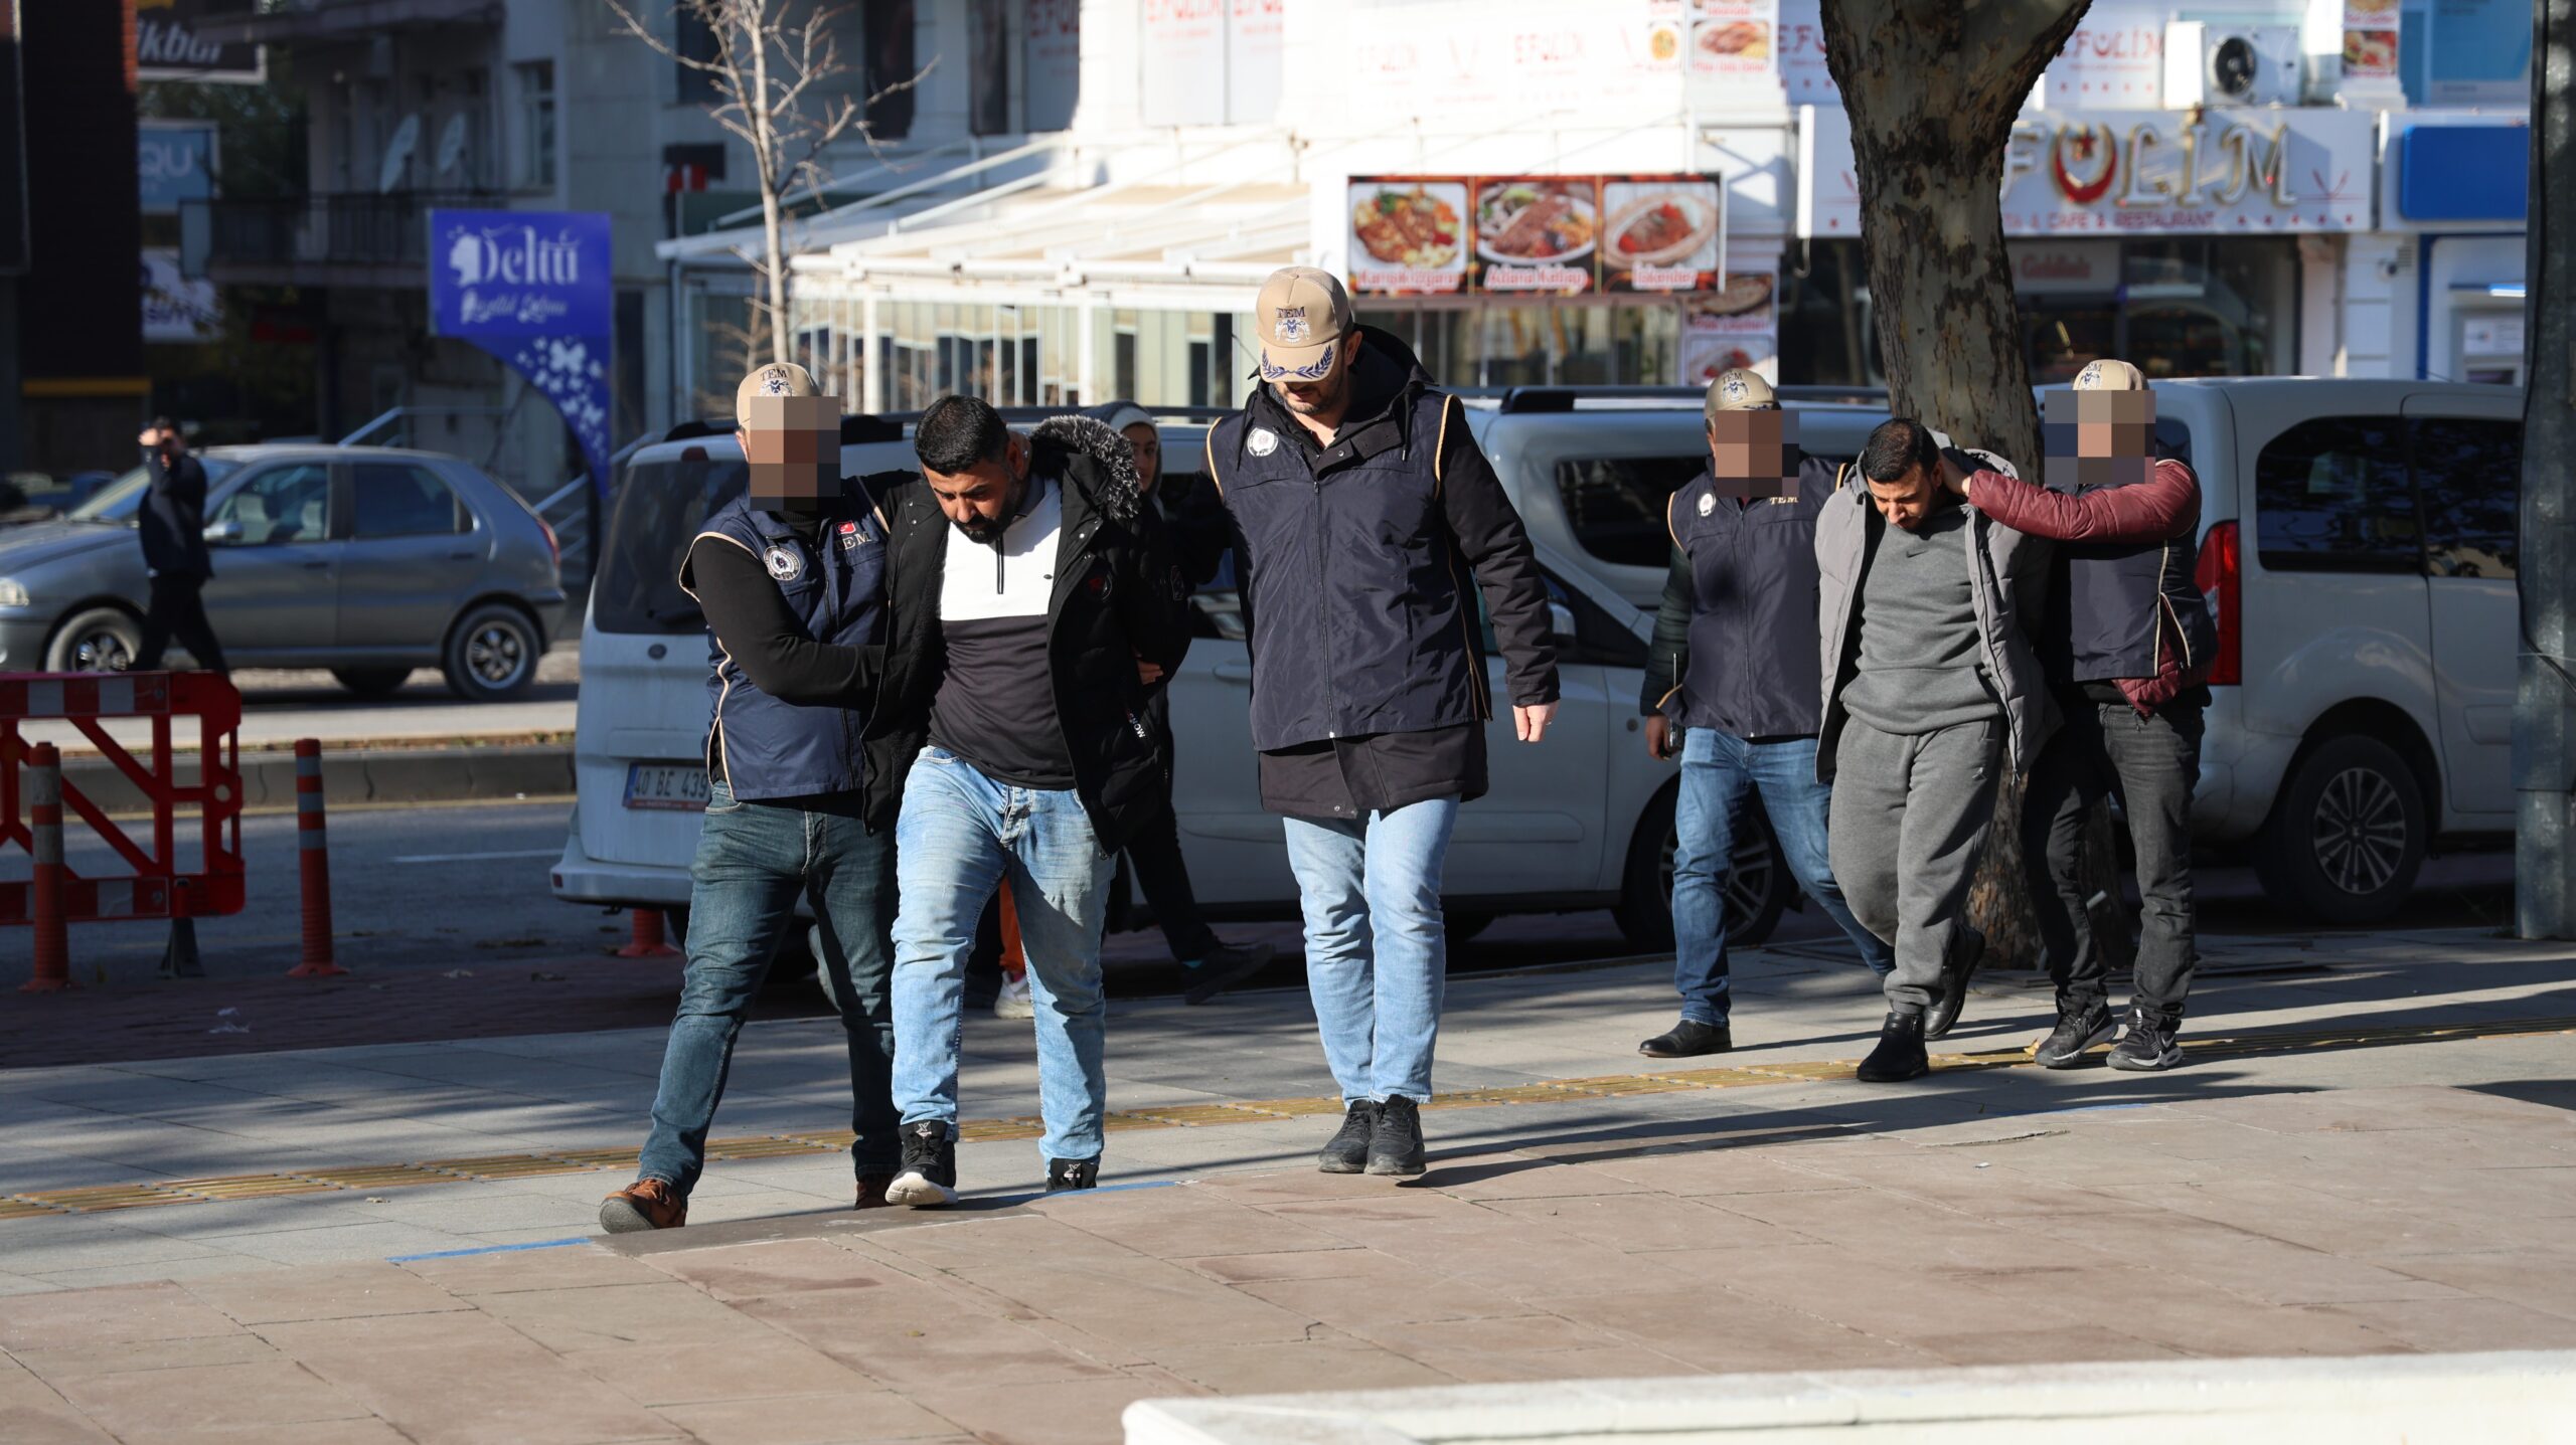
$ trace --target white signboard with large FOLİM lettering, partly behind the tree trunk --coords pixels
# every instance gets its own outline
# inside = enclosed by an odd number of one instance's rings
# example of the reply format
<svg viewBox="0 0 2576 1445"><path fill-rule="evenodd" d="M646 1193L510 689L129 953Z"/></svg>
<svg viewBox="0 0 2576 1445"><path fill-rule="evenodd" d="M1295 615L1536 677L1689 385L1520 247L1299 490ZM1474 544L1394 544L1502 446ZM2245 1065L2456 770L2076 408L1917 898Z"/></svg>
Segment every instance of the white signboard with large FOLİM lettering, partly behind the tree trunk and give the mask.
<svg viewBox="0 0 2576 1445"><path fill-rule="evenodd" d="M2370 229L2370 111L2035 111L2004 149L2004 234L2298 234ZM1801 111L1798 234L1857 237L1839 108Z"/></svg>

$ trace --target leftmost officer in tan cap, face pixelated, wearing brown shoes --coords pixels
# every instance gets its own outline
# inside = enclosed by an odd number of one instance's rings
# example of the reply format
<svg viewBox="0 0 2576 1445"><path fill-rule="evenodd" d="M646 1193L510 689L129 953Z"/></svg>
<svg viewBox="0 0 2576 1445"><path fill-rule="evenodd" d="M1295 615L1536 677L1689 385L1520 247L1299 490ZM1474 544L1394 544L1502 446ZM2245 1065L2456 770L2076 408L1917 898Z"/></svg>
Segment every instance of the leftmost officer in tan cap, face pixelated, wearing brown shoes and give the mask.
<svg viewBox="0 0 2576 1445"><path fill-rule="evenodd" d="M884 672L886 525L840 474L840 399L773 363L734 394L747 489L706 518L680 587L706 613L706 832L690 863L688 974L662 1053L652 1136L634 1185L600 1203L611 1234L688 1221L734 1035L796 904L850 1051L858 1208L886 1203L902 1157L894 1113L894 835L899 778L863 734Z"/></svg>

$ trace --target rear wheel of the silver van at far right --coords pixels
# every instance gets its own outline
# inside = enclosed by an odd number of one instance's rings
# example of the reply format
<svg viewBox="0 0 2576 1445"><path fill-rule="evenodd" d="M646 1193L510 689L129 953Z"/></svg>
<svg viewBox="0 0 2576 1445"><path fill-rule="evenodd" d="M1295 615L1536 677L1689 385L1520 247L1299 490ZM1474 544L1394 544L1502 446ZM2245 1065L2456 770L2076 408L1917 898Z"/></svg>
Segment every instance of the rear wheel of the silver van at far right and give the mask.
<svg viewBox="0 0 2576 1445"><path fill-rule="evenodd" d="M2406 904L2432 842L2416 770L2375 737L2311 747L2264 819L2254 873L2313 922L2383 922Z"/></svg>

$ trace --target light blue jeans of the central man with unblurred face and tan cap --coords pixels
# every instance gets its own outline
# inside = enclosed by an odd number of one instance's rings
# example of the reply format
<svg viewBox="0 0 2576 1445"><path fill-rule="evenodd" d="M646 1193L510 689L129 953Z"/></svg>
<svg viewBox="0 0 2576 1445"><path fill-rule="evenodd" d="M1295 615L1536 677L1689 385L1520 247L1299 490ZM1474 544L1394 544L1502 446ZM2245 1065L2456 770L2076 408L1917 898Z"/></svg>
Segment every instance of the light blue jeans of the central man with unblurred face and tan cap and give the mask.
<svg viewBox="0 0 2576 1445"><path fill-rule="evenodd" d="M1342 1100L1430 1102L1448 984L1440 863L1458 798L1285 822L1306 909L1306 989Z"/></svg>

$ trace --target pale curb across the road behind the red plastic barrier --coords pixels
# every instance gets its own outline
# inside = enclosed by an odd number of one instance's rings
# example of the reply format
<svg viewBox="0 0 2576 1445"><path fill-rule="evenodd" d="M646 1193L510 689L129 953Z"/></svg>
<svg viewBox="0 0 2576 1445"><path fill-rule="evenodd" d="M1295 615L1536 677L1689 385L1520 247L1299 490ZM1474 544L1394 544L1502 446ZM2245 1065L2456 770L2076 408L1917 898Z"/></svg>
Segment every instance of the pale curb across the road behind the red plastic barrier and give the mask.
<svg viewBox="0 0 2576 1445"><path fill-rule="evenodd" d="M183 783L198 770L175 760ZM106 757L64 757L62 780L108 814L147 814L152 804ZM477 798L572 796L572 744L520 747L350 747L322 744L322 793L337 804L453 804ZM296 755L242 752L242 806L283 809L296 798Z"/></svg>

